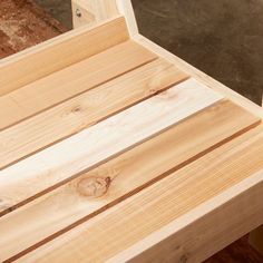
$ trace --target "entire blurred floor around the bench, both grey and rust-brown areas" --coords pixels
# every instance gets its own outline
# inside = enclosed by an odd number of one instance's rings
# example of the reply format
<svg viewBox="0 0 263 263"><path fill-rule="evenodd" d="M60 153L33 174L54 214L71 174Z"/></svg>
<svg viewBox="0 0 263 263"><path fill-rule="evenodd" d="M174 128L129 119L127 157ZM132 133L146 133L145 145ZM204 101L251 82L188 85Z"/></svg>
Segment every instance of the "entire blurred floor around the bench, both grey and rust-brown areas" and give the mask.
<svg viewBox="0 0 263 263"><path fill-rule="evenodd" d="M260 104L263 0L133 0L139 30L230 88ZM46 12L45 12L46 10ZM1 0L0 58L71 29L70 0ZM206 263L262 263L233 243Z"/></svg>

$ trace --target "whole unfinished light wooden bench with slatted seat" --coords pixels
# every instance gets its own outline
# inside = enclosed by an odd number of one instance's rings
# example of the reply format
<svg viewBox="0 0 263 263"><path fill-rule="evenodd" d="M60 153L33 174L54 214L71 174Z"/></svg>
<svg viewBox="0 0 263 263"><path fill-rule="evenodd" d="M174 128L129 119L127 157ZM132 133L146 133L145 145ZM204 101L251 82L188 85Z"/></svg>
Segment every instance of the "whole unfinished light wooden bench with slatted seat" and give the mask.
<svg viewBox="0 0 263 263"><path fill-rule="evenodd" d="M262 108L140 36L129 1L72 12L0 61L0 261L202 262L261 226Z"/></svg>

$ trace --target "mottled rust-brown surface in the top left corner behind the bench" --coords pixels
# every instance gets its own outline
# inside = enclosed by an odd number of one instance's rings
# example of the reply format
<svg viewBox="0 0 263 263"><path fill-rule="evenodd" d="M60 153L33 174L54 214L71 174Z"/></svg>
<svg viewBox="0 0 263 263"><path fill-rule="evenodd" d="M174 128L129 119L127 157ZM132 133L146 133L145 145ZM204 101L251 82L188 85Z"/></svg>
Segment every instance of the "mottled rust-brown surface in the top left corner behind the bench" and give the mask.
<svg viewBox="0 0 263 263"><path fill-rule="evenodd" d="M0 1L0 58L65 31L67 28L62 23L30 0Z"/></svg>

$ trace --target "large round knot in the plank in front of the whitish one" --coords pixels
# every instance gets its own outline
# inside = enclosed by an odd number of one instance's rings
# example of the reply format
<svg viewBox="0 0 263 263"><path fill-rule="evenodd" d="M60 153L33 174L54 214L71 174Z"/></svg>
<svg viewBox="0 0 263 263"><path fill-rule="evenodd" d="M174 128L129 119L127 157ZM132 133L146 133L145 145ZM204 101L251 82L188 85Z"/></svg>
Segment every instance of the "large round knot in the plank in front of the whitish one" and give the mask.
<svg viewBox="0 0 263 263"><path fill-rule="evenodd" d="M89 177L78 183L78 192L88 197L100 197L108 191L110 177Z"/></svg>

